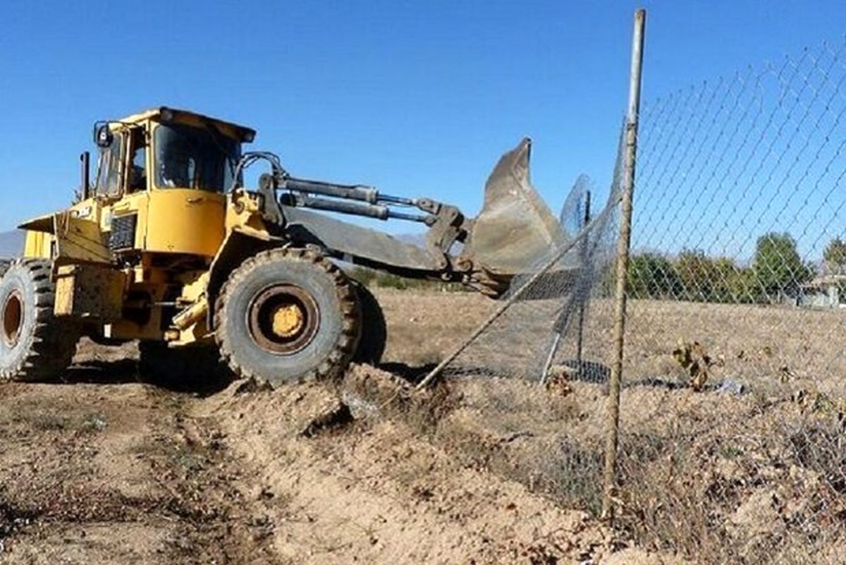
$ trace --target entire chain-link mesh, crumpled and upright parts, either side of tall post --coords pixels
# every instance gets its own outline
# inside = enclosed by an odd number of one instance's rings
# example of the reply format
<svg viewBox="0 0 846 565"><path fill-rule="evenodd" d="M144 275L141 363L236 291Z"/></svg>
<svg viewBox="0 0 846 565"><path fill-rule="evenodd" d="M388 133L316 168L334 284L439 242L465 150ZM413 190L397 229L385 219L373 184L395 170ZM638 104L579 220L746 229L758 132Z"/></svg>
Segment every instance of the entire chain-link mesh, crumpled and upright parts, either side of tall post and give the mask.
<svg viewBox="0 0 846 565"><path fill-rule="evenodd" d="M615 524L697 562L846 555L846 41L640 115ZM566 382L557 493L596 510L619 158L448 376ZM551 258L560 257L556 261ZM516 295L516 296L515 296Z"/></svg>

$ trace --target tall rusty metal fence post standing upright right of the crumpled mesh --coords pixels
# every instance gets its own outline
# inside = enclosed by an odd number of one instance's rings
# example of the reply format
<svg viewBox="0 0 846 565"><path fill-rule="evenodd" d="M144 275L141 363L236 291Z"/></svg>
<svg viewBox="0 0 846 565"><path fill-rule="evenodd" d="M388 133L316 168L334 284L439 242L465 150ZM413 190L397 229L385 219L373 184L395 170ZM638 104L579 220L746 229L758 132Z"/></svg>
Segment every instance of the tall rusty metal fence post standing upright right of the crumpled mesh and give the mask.
<svg viewBox="0 0 846 565"><path fill-rule="evenodd" d="M643 34L646 11L634 13L632 60L629 74L629 107L625 123L625 155L623 167L623 199L620 233L617 241L617 280L614 293L614 359L608 387L605 469L603 475L602 518L613 521L613 497L616 490L618 425L620 420L620 381L623 378L623 346L626 319L626 272L629 270L631 243L632 196L634 194L634 163L637 152L637 125L640 112L640 73L643 66Z"/></svg>

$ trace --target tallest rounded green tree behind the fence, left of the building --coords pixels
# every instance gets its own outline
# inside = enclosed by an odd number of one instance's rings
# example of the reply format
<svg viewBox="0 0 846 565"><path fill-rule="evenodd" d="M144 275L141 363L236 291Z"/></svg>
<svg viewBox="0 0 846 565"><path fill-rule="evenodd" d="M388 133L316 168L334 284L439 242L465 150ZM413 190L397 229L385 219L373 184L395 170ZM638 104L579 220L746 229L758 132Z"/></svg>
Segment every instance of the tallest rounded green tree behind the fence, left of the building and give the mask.
<svg viewBox="0 0 846 565"><path fill-rule="evenodd" d="M799 257L796 240L789 233L772 232L758 238L752 268L770 299L781 293L795 293L799 285L809 281L814 274Z"/></svg>

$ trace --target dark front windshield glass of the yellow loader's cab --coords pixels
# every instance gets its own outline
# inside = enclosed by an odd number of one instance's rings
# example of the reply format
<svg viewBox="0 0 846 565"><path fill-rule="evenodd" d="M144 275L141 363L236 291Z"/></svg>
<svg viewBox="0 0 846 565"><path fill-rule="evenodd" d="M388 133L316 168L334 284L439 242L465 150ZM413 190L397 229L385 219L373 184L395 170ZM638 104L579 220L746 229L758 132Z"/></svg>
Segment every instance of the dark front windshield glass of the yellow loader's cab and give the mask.
<svg viewBox="0 0 846 565"><path fill-rule="evenodd" d="M213 126L160 124L155 133L156 184L223 192L233 184L241 144Z"/></svg>

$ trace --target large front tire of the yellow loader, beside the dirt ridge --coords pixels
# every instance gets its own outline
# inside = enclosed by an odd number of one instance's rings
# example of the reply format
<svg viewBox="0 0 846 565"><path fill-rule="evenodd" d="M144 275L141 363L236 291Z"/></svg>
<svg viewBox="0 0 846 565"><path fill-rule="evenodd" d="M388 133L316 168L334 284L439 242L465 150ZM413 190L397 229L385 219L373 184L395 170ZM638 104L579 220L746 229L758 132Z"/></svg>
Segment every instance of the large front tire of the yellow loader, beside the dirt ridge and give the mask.
<svg viewBox="0 0 846 565"><path fill-rule="evenodd" d="M288 337L266 330L272 296L295 304ZM277 293L277 294L273 294ZM274 312L277 312L274 310ZM264 325L262 325L264 324ZM283 384L329 379L346 370L358 346L361 312L349 279L310 250L263 251L245 260L223 284L215 305L215 338L223 360L242 378ZM285 341L290 340L290 341Z"/></svg>

